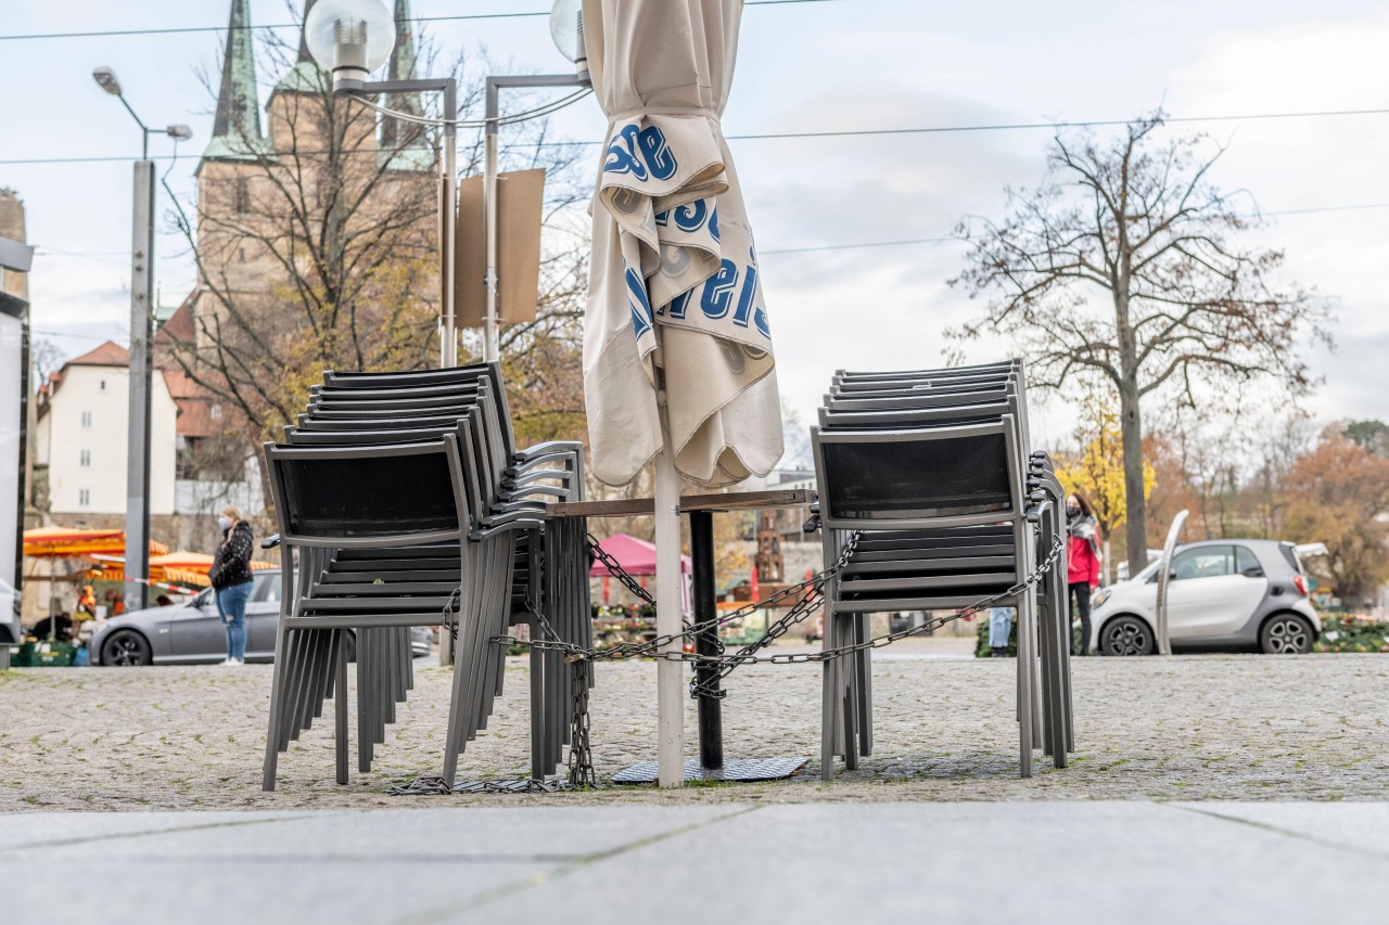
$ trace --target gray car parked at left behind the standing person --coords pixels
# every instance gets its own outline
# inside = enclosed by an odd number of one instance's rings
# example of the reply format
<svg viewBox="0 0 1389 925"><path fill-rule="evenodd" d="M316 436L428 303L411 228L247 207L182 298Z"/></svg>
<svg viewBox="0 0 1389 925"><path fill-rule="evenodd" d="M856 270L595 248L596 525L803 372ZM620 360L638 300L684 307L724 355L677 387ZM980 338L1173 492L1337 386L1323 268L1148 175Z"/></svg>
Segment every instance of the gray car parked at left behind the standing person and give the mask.
<svg viewBox="0 0 1389 925"><path fill-rule="evenodd" d="M246 661L275 660L279 625L279 569L254 574L246 604ZM349 635L347 658L354 656ZM414 626L410 647L428 656L431 632ZM113 617L97 626L88 643L93 665L193 665L226 658L226 628L217 612L213 589L172 607L150 607Z"/></svg>

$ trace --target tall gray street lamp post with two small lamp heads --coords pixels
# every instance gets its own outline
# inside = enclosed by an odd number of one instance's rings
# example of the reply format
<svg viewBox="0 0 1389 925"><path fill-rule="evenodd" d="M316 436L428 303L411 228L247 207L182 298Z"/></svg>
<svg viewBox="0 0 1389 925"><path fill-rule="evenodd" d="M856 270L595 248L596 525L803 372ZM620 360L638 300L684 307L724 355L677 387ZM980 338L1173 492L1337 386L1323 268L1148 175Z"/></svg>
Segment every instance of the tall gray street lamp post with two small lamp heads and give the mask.
<svg viewBox="0 0 1389 925"><path fill-rule="evenodd" d="M121 92L115 71L92 71L97 85L121 100L140 126L140 160L135 162L133 233L131 244L131 419L125 474L125 608L149 606L150 576L150 389L154 340L154 161L150 135L175 140L193 138L186 125L151 129Z"/></svg>

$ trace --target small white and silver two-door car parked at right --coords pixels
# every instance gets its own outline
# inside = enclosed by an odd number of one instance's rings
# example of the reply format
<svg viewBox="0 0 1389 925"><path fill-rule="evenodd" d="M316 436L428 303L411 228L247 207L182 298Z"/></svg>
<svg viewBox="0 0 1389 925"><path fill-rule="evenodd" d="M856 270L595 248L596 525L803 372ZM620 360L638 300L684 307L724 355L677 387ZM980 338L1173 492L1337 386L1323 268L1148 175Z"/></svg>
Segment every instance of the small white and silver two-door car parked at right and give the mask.
<svg viewBox="0 0 1389 925"><path fill-rule="evenodd" d="M1311 650L1321 618L1297 547L1276 540L1224 539L1178 546L1168 579L1168 633L1178 650ZM1324 547L1322 547L1324 550ZM1157 572L1161 562L1090 599L1092 650L1104 656L1157 651Z"/></svg>

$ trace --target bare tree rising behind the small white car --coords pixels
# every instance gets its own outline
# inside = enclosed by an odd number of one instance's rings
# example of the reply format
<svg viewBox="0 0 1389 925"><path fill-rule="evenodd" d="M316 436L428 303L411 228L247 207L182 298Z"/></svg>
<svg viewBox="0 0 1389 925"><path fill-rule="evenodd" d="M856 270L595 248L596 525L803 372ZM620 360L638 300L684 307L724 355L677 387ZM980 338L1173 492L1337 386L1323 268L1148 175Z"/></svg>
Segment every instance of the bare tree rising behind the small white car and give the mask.
<svg viewBox="0 0 1389 925"><path fill-rule="evenodd" d="M1010 336L1032 385L1099 372L1118 393L1131 574L1147 561L1143 399L1167 389L1195 401L1200 385L1257 378L1303 394L1313 379L1297 347L1326 339L1324 300L1274 281L1282 251L1238 240L1263 218L1210 181L1224 149L1163 140L1161 125L1156 112L1108 142L1057 132L1043 183L1006 190L1003 224L961 225L974 247L950 281L988 297L985 317L953 336Z"/></svg>

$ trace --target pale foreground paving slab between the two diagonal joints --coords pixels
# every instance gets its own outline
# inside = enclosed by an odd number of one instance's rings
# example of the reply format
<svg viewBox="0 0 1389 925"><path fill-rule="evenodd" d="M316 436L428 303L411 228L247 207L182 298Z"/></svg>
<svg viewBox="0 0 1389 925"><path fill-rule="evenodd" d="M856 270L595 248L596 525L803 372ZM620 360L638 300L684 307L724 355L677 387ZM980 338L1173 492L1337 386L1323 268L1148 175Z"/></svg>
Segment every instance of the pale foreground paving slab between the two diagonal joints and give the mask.
<svg viewBox="0 0 1389 925"><path fill-rule="evenodd" d="M1325 806L1303 810L1308 824ZM1365 808L1365 807L1361 807ZM1371 811L1389 822L1389 807ZM1329 822L1328 822L1329 824ZM1382 922L1389 861L1157 803L768 806L550 872L447 921L651 921L604 885L650 871L685 922Z"/></svg>

